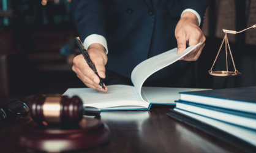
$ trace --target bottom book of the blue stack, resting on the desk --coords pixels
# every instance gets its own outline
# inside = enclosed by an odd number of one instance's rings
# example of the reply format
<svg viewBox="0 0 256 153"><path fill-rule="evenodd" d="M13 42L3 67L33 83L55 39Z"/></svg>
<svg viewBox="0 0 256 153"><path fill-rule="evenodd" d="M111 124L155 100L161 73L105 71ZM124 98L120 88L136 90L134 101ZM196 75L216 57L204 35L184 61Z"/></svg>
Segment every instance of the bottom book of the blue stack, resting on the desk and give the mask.
<svg viewBox="0 0 256 153"><path fill-rule="evenodd" d="M217 121L177 108L170 111L171 112L167 114L172 118L178 119L181 122L192 125L192 127L203 130L203 132L216 136L220 140L226 141L245 152L255 152L255 130Z"/></svg>

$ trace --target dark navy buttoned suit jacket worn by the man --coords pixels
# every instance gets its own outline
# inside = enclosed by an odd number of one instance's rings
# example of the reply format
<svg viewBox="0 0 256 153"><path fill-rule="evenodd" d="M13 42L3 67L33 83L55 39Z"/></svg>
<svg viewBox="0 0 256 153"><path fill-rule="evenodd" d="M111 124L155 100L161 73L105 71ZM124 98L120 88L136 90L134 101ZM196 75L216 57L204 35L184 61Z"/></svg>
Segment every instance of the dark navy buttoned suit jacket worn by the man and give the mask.
<svg viewBox="0 0 256 153"><path fill-rule="evenodd" d="M130 78L140 62L177 47L175 27L185 9L194 9L201 25L208 0L72 0L82 41L91 34L107 39L106 68ZM149 80L170 76L189 64L178 61Z"/></svg>

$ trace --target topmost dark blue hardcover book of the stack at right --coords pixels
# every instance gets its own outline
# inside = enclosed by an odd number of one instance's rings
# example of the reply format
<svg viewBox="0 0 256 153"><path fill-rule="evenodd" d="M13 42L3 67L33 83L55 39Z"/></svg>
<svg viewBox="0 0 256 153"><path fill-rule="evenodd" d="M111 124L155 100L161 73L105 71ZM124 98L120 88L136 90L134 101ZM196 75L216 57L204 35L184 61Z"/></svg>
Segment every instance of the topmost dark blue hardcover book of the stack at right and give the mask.
<svg viewBox="0 0 256 153"><path fill-rule="evenodd" d="M179 93L185 102L256 114L256 86Z"/></svg>

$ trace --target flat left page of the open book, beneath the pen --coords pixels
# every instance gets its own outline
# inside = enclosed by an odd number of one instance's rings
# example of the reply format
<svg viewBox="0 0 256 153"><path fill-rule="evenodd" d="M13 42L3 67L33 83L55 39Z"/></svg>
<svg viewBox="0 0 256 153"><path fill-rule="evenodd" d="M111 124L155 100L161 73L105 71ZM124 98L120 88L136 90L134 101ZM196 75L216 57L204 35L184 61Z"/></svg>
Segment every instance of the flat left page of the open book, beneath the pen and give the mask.
<svg viewBox="0 0 256 153"><path fill-rule="evenodd" d="M108 86L108 92L97 91L92 88L69 88L63 95L67 95L69 97L78 95L83 100L84 104L129 100L143 102L134 86L127 85Z"/></svg>

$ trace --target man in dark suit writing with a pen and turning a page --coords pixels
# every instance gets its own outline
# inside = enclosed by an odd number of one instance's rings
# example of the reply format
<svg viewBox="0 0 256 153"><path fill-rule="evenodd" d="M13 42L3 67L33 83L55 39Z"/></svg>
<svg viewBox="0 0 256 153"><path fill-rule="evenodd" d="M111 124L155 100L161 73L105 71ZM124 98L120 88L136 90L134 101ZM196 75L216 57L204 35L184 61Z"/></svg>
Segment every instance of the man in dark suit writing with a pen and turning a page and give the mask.
<svg viewBox="0 0 256 153"><path fill-rule="evenodd" d="M173 87L189 86L192 72L189 61L196 61L205 45L200 28L208 3L208 0L72 0L80 39L107 85L132 85L130 75L140 62L177 44L179 54L186 45L202 42L199 48L150 76L145 83ZM104 91L81 54L73 63L73 71L86 86Z"/></svg>

